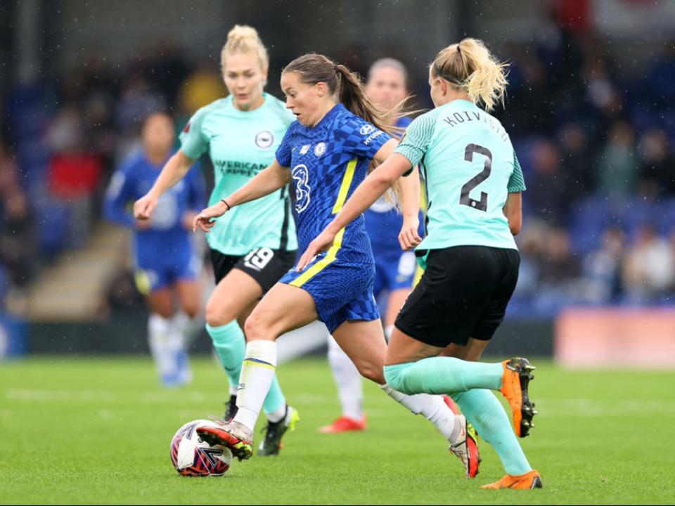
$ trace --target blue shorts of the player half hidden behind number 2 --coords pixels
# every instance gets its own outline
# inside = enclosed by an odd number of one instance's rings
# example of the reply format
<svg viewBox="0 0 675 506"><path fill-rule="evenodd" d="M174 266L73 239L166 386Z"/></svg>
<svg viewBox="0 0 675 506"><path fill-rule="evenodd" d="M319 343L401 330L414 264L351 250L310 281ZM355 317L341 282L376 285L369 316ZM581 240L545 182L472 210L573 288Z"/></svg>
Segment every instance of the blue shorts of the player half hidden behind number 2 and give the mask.
<svg viewBox="0 0 675 506"><path fill-rule="evenodd" d="M373 293L376 297L387 290L391 293L401 288L412 288L417 260L415 253L396 247L380 248L373 245L375 256L375 282Z"/></svg>

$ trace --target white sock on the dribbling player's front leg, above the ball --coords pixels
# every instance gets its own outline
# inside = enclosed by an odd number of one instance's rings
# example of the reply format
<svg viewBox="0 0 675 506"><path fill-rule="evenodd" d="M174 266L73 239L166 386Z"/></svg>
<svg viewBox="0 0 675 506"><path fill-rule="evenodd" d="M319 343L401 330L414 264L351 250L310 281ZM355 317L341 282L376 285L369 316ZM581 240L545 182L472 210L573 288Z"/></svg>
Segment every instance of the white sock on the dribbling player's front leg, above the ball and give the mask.
<svg viewBox="0 0 675 506"><path fill-rule="evenodd" d="M246 344L246 355L241 365L235 422L251 431L255 427L262 403L271 387L276 370L276 342L258 339Z"/></svg>

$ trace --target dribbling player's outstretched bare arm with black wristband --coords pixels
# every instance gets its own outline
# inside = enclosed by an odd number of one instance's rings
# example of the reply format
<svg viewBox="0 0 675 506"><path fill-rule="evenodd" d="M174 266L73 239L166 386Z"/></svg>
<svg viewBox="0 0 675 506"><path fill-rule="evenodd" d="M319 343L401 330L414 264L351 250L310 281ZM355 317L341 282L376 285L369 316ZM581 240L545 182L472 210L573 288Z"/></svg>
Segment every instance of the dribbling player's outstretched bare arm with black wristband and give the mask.
<svg viewBox="0 0 675 506"><path fill-rule="evenodd" d="M290 181L290 170L288 167L283 167L279 162L274 160L269 167L262 170L251 181L225 197L220 202L207 207L200 214L195 216L193 221L193 230L200 228L203 232L208 232L214 226L213 218L218 218L232 207L240 204L245 204L251 200L259 199L288 184ZM227 203L226 203L227 202Z"/></svg>

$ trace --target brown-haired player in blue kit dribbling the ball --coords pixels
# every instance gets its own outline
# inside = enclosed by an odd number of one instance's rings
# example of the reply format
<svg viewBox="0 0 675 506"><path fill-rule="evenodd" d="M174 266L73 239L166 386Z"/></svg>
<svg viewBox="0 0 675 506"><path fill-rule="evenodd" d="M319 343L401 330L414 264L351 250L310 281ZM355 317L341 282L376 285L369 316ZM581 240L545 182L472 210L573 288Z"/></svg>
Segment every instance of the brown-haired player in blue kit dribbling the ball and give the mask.
<svg viewBox="0 0 675 506"><path fill-rule="evenodd" d="M385 160L396 147L358 76L344 65L317 54L301 56L283 70L281 87L298 121L288 129L276 159L246 186L204 209L195 217L195 228L208 232L217 223L212 219L293 180L298 239L306 246L340 212L371 162ZM418 193L412 198L419 202ZM386 344L373 299L374 277L373 252L359 216L342 228L328 252L303 272L286 273L253 310L245 323L248 344L238 413L219 428L198 427L200 437L228 446L240 460L250 458L252 429L276 369L276 338L319 318L359 372L413 413L423 413L449 441L465 475L475 476L478 451L465 417L454 415L440 396L407 396L385 384Z"/></svg>

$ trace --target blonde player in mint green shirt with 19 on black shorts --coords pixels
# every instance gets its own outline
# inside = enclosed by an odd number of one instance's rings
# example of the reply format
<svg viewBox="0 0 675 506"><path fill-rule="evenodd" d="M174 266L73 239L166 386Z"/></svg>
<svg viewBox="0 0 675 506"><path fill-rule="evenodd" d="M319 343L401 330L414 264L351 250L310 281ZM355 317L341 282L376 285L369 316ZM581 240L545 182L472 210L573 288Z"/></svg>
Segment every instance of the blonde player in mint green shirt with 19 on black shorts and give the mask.
<svg viewBox="0 0 675 506"><path fill-rule="evenodd" d="M215 171L210 205L248 183L274 160L295 117L283 102L264 93L269 60L255 29L236 25L221 52L229 96L197 112L181 133L181 149L155 185L136 201L134 214L147 219L160 195L180 181L194 161L208 153ZM244 322L262 295L295 262L297 238L288 186L233 209L207 237L216 287L206 305L206 330L230 381L226 420L236 415L236 394L244 359ZM258 455L276 455L281 437L298 420L276 376L264 401L268 424Z"/></svg>

